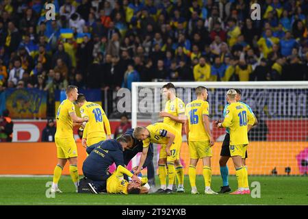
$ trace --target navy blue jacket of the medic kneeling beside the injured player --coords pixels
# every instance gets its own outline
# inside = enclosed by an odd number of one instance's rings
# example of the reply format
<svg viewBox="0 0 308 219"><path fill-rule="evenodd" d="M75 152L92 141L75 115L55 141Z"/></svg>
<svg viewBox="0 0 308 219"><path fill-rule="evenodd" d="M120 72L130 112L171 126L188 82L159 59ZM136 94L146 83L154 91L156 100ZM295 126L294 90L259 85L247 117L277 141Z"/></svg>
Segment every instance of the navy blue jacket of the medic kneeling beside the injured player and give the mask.
<svg viewBox="0 0 308 219"><path fill-rule="evenodd" d="M109 166L124 166L123 148L116 140L105 140L87 148L88 157L82 170L94 175L106 175Z"/></svg>

